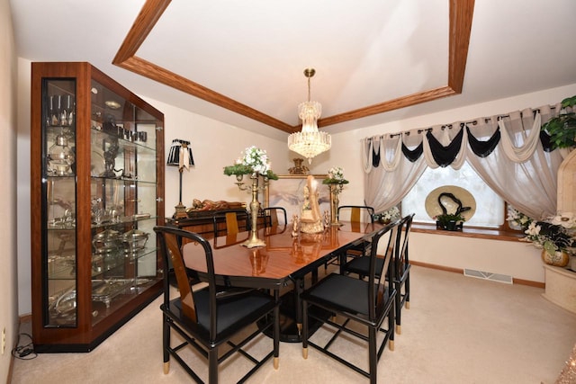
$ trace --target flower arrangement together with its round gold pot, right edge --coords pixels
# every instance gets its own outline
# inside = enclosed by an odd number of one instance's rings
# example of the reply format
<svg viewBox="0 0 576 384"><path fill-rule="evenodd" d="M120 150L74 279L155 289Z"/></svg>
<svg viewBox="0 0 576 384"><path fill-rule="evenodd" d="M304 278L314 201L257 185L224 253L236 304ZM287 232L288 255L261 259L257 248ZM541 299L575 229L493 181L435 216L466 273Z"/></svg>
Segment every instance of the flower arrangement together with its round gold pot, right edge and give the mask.
<svg viewBox="0 0 576 384"><path fill-rule="evenodd" d="M523 241L542 248L542 260L550 265L566 266L574 253L576 239L576 217L573 213L563 213L544 221L533 221L525 233Z"/></svg>

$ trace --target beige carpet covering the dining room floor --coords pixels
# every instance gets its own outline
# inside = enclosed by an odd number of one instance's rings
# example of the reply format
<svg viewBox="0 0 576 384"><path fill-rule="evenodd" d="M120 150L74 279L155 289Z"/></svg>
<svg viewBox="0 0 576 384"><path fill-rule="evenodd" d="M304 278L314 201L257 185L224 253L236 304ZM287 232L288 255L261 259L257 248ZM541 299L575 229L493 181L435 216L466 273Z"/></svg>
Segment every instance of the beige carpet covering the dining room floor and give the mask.
<svg viewBox="0 0 576 384"><path fill-rule="evenodd" d="M410 309L402 311L401 335L378 364L379 383L534 383L552 384L563 371L576 343L576 315L544 299L544 290L483 281L423 267L411 270ZM172 360L162 367L162 315L156 299L91 353L43 353L15 359L13 384L34 381L67 383L189 383ZM30 333L30 324L22 332ZM313 336L325 338L320 328ZM268 347L262 336L253 348ZM338 346L347 359L367 361L356 343ZM34 357L33 359L31 357ZM206 365L190 353L207 379ZM220 382L236 382L243 357L220 366ZM365 363L367 366L367 362ZM247 367L247 365L246 365ZM356 383L367 380L328 356L302 344L281 343L280 367L266 362L249 383Z"/></svg>

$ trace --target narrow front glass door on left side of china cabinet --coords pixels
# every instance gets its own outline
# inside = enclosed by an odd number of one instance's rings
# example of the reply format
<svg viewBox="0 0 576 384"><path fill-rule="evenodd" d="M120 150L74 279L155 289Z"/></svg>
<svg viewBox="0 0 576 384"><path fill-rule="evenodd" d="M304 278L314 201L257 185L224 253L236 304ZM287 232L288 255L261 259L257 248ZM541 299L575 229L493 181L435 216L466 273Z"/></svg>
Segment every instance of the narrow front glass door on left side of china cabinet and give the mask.
<svg viewBox="0 0 576 384"><path fill-rule="evenodd" d="M42 82L45 326L76 326L76 80Z"/></svg>

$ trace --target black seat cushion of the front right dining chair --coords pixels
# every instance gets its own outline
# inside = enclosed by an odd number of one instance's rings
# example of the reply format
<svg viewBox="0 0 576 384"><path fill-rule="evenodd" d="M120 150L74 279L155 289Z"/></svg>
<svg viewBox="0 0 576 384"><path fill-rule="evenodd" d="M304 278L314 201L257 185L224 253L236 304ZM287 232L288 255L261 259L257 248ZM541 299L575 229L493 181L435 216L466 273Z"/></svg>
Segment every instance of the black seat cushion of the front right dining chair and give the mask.
<svg viewBox="0 0 576 384"><path fill-rule="evenodd" d="M343 312L368 317L368 281L331 273L309 290L302 293L302 299ZM377 286L374 285L374 290ZM387 300L387 292L385 294Z"/></svg>

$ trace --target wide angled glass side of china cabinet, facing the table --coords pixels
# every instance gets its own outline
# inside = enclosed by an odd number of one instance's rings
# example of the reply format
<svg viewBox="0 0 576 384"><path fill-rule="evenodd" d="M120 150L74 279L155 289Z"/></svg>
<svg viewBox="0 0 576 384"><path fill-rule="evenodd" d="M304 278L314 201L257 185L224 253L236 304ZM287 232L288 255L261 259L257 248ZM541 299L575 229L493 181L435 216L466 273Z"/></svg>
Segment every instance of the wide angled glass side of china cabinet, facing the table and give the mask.
<svg viewBox="0 0 576 384"><path fill-rule="evenodd" d="M96 81L91 88L93 324L159 278L157 121Z"/></svg>

